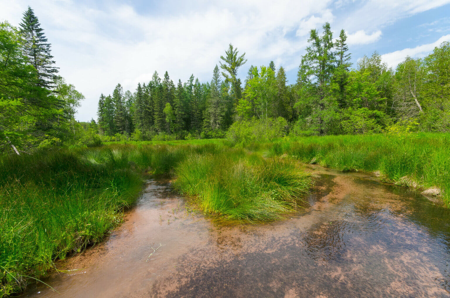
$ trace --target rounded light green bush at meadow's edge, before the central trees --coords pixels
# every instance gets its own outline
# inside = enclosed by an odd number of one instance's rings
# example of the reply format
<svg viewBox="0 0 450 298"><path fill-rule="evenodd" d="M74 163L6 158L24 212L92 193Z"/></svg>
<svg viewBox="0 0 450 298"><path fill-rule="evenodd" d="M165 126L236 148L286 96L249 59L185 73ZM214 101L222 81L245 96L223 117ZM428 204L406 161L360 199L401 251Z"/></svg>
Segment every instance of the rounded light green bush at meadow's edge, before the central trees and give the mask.
<svg viewBox="0 0 450 298"><path fill-rule="evenodd" d="M227 137L236 143L267 142L287 135L288 122L283 117L242 120L229 127Z"/></svg>

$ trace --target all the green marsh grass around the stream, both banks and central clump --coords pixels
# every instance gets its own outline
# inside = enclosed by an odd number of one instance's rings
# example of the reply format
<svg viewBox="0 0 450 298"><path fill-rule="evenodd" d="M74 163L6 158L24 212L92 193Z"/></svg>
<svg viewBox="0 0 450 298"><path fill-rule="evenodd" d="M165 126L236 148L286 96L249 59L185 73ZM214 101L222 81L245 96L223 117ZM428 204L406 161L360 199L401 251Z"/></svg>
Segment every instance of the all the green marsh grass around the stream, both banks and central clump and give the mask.
<svg viewBox="0 0 450 298"><path fill-rule="evenodd" d="M311 175L299 162L439 189L448 207L449 157L448 134L418 134L292 138L242 148L226 140L112 143L3 158L0 297L45 276L55 259L101 241L148 175L170 175L204 213L259 222L302 204Z"/></svg>

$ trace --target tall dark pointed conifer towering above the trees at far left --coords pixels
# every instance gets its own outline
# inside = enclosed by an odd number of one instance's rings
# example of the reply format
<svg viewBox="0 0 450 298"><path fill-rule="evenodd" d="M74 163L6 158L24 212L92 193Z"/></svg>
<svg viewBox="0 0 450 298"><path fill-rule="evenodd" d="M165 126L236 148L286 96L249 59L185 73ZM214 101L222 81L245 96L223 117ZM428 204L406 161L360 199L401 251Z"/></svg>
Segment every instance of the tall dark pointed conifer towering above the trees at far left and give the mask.
<svg viewBox="0 0 450 298"><path fill-rule="evenodd" d="M24 52L30 63L36 68L39 78L39 86L47 89L55 86L58 68L51 55L50 44L44 34L44 29L40 27L38 18L28 6L23 13L22 23L19 24L21 32L25 37Z"/></svg>

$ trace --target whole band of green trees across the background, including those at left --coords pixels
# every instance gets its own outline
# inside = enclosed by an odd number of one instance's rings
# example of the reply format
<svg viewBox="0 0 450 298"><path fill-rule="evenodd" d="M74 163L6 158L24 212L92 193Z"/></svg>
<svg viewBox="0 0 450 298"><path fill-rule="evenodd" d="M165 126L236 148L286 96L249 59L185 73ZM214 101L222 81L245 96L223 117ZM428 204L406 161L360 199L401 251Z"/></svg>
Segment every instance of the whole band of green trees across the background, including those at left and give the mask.
<svg viewBox="0 0 450 298"><path fill-rule="evenodd" d="M120 83L112 93L105 90L97 119L80 123L76 110L85 97L58 76L33 10L24 12L19 27L0 26L3 154L121 140L248 141L450 129L449 42L423 59L405 57L395 69L376 51L352 65L345 31L334 38L325 23L321 31L311 29L293 84L273 61L251 65L242 82L238 71L247 59L230 44L211 67L210 82L194 75L174 82L155 71L133 92Z"/></svg>

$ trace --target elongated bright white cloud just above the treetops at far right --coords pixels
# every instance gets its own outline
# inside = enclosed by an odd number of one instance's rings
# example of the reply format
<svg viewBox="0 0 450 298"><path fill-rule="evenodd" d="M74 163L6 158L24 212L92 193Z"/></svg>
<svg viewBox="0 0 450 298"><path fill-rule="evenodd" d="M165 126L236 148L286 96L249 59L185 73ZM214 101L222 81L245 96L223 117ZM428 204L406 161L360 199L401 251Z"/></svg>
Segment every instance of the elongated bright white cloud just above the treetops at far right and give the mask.
<svg viewBox="0 0 450 298"><path fill-rule="evenodd" d="M439 46L444 41L450 41L450 34L442 36L437 41L430 44L419 45L415 48L407 48L403 50L398 50L392 53L387 53L381 55L381 59L386 62L389 66L396 67L398 63L401 63L406 56L412 58L422 58L429 54L435 47Z"/></svg>

